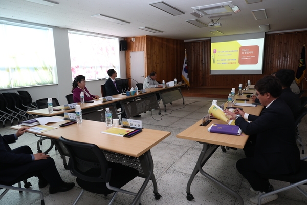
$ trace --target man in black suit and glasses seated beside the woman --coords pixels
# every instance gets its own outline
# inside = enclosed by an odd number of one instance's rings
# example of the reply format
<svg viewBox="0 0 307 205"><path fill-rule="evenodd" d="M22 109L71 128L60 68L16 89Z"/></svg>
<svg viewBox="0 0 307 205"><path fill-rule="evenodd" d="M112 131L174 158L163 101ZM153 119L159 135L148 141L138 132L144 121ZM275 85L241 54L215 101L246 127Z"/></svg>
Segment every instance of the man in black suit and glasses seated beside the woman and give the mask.
<svg viewBox="0 0 307 205"><path fill-rule="evenodd" d="M121 87L117 84L115 78L117 77L117 72L114 69L109 69L107 71L109 78L105 81L105 91L107 96L121 94ZM121 108L120 103L116 104L117 108ZM125 112L121 116L122 118L127 118ZM141 115L136 115L134 117L141 117Z"/></svg>

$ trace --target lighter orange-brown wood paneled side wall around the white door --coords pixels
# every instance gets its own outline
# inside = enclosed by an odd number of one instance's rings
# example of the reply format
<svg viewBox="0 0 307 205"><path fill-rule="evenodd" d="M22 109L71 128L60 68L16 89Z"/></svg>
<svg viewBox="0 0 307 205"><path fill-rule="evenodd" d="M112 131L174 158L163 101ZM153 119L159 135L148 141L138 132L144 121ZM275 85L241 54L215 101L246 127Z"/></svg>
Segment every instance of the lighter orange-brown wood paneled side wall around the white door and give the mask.
<svg viewBox="0 0 307 205"><path fill-rule="evenodd" d="M172 81L174 78L181 80L184 61L183 40L160 38L153 36L138 36L125 38L127 40L126 73L131 77L130 52L144 51L145 76L151 71L157 72L157 81Z"/></svg>

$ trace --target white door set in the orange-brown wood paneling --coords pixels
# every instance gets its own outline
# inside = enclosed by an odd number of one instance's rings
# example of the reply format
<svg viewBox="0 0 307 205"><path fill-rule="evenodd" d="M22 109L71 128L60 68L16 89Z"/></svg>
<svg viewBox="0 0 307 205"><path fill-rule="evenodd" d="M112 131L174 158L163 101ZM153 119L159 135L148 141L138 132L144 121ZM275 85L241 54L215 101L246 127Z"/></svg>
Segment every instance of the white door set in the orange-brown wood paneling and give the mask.
<svg viewBox="0 0 307 205"><path fill-rule="evenodd" d="M131 85L133 88L145 80L145 57L144 51L130 52ZM134 79L134 80L133 80Z"/></svg>

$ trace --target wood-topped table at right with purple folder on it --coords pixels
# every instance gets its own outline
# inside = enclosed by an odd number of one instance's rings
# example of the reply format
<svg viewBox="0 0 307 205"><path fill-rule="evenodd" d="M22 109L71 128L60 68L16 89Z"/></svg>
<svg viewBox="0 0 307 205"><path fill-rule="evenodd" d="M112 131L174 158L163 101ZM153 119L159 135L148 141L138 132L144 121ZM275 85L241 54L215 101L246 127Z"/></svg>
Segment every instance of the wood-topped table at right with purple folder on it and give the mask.
<svg viewBox="0 0 307 205"><path fill-rule="evenodd" d="M226 105L227 103L225 104L225 107ZM249 114L254 114L254 115L259 115L263 109L263 106L259 106L259 105L257 105L256 107L248 107L248 106L238 106L238 107L242 107L244 112L249 113ZM218 181L217 179L215 179L214 177L206 173L203 170L203 167L205 163L207 162L207 160L212 156L212 154L214 154L214 152L219 146L227 146L227 147L243 149L249 136L246 135L244 132L242 132L242 134L239 136L208 132L208 128L213 123L226 124L226 122L223 122L222 120L218 120L218 119L211 119L211 120L212 121L207 126L200 126L203 122L203 120L200 120L196 122L194 125L192 125L191 127L187 128L186 130L176 135L177 138L197 141L203 145L203 149L200 153L200 156L196 162L196 165L187 183L187 192L186 192L187 199L188 200L193 199L193 195L190 192L191 183L194 177L196 176L196 174L200 172L206 178L215 182L218 186L223 188L225 191L235 196L238 199L240 204L244 204L244 201L239 194L237 194L232 189L224 185L221 181Z"/></svg>

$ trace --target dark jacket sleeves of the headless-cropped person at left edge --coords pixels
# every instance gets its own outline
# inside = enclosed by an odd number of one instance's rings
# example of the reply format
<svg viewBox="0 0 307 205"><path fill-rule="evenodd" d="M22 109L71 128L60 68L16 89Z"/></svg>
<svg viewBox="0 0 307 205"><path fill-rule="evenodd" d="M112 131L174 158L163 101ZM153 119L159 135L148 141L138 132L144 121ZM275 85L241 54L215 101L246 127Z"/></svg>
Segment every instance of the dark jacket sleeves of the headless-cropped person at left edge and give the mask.
<svg viewBox="0 0 307 205"><path fill-rule="evenodd" d="M11 152L9 143L15 142L15 136L12 135L0 135L0 165L2 164L23 164L32 161L30 154L15 154Z"/></svg>

